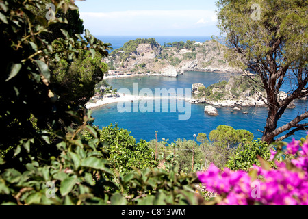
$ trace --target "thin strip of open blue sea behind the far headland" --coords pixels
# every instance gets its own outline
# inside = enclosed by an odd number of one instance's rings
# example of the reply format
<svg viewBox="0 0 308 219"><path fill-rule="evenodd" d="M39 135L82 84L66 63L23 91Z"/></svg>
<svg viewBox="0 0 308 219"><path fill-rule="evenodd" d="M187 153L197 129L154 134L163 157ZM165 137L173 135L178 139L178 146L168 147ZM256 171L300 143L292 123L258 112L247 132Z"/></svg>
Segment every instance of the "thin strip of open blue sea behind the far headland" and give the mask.
<svg viewBox="0 0 308 219"><path fill-rule="evenodd" d="M187 40L196 41L196 42L205 42L207 40L211 40L210 36L95 36L99 40L112 44L112 49L118 49L123 47L125 42L129 40L136 40L137 38L155 38L155 40L161 44L162 46L164 43L168 42L179 42L183 41L186 42Z"/></svg>

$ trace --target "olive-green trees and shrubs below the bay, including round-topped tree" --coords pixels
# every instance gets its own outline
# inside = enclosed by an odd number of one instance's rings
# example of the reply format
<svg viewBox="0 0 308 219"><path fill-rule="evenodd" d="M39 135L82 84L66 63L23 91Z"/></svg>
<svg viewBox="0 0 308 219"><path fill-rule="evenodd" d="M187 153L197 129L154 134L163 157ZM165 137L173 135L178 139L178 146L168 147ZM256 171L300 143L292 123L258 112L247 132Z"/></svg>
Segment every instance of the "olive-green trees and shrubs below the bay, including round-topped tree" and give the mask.
<svg viewBox="0 0 308 219"><path fill-rule="evenodd" d="M155 151L155 160L159 160L161 166L164 166L164 162L169 162L179 166L179 170L189 173L205 170L211 163L224 168L230 157L235 156L239 148L243 151L242 147L250 144L254 138L249 131L235 130L227 125L219 125L208 137L205 133L199 133L196 141L178 139L168 143L168 139L151 140L149 146ZM269 153L267 144L257 145ZM246 146L245 150L250 150L250 146ZM259 155L267 158L264 151Z"/></svg>

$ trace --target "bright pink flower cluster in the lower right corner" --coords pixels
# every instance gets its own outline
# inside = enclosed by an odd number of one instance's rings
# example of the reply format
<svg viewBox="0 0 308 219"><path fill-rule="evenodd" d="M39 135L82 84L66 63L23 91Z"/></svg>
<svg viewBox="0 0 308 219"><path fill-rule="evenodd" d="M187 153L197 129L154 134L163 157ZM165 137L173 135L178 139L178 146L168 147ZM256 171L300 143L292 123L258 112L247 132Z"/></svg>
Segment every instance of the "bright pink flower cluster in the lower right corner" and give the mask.
<svg viewBox="0 0 308 219"><path fill-rule="evenodd" d="M278 168L270 170L254 166L255 180L248 172L220 170L214 164L198 172L198 179L222 197L218 205L308 205L308 139L298 149L300 141L287 145L286 153L298 155L291 164L276 162Z"/></svg>

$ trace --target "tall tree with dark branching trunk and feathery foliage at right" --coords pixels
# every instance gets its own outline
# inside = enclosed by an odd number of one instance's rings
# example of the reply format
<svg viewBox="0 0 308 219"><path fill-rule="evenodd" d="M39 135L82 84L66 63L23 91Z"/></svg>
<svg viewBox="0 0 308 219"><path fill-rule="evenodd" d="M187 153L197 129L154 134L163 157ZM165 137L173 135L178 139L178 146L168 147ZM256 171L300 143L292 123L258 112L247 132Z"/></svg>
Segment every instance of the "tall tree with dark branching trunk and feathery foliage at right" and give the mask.
<svg viewBox="0 0 308 219"><path fill-rule="evenodd" d="M226 36L229 63L261 78L269 109L261 140L271 143L308 129L307 110L284 125L277 125L288 105L308 94L307 1L261 1L257 12L251 10L254 3L219 0L218 27ZM281 100L279 91L284 83L290 90L287 98Z"/></svg>

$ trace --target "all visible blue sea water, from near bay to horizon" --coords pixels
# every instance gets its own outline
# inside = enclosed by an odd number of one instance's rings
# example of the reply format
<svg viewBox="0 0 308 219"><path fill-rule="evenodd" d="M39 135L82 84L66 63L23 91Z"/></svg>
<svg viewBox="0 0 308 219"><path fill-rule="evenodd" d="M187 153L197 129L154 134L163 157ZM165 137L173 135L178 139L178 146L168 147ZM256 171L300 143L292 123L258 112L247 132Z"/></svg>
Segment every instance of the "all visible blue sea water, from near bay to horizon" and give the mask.
<svg viewBox="0 0 308 219"><path fill-rule="evenodd" d="M120 48L123 44L129 40L136 38L151 38L144 36L101 36L100 40L103 42L110 42L114 49ZM163 36L152 37L159 42L175 42L186 40L195 40L196 42L205 42L210 40L210 37L179 37L179 36ZM155 88L192 88L193 83L203 83L205 86L209 86L213 83L217 83L221 80L229 80L229 76L222 73L206 73L206 72L185 72L183 75L179 75L177 78L172 77L160 77L160 76L142 76L142 77L119 77L107 79L107 83L113 88L120 90L120 88L127 88L133 94L133 83L138 83L138 89L149 88L155 93ZM285 92L289 91L287 83L281 89ZM185 90L184 90L185 93ZM155 139L155 133L157 138L168 139L169 142L178 139L193 140L194 134L206 133L209 135L210 131L216 129L218 125L229 125L234 129L246 129L253 133L255 140L261 138L262 133L258 131L264 130L266 124L266 118L268 116L268 110L266 107L246 107L243 110L236 112L230 107L218 107L218 116L209 116L205 114L205 104L190 104L188 102L183 103L185 112L179 110L179 104L172 103L169 100L168 105L160 104L160 110L153 110L153 112L133 112L133 108L138 109L140 101L133 101L127 103L112 103L109 105L103 105L97 109L92 110L92 116L94 117L94 125L99 128L106 127L110 124L115 125L118 123L118 127L127 129L131 132L131 136L136 138L137 141L144 139L150 141ZM155 101L153 101L153 109L155 107ZM163 102L161 102L163 103ZM176 112L172 111L171 105L177 105ZM122 105L120 105L122 104ZM142 102L144 105L144 102ZM131 112L122 112L118 110L123 106L131 107ZM296 108L287 109L279 120L278 126L284 125L290 122L298 114L307 111L308 101L297 100L295 102ZM164 108L165 107L165 108ZM181 108L183 110L183 107ZM129 110L127 110L129 111ZM150 110L149 110L150 111ZM187 120L179 120L179 115L188 114L190 112L190 118ZM248 114L242 112L247 111ZM303 120L302 123L308 121ZM306 131L297 131L294 136L285 139L290 142L292 138L299 140L306 136ZM282 135L280 135L282 136Z"/></svg>

